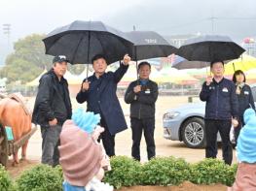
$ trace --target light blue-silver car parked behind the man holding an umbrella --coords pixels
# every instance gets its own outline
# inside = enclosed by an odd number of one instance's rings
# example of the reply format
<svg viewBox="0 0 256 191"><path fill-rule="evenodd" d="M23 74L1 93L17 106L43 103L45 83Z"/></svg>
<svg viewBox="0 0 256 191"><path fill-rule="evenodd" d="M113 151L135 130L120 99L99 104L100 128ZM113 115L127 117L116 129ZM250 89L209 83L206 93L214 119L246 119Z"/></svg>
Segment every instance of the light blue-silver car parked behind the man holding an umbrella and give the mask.
<svg viewBox="0 0 256 191"><path fill-rule="evenodd" d="M251 89L254 101L256 101L256 84L251 85ZM188 103L166 111L163 116L164 138L184 142L191 148L204 147L204 111L204 102ZM219 135L218 142L221 142Z"/></svg>

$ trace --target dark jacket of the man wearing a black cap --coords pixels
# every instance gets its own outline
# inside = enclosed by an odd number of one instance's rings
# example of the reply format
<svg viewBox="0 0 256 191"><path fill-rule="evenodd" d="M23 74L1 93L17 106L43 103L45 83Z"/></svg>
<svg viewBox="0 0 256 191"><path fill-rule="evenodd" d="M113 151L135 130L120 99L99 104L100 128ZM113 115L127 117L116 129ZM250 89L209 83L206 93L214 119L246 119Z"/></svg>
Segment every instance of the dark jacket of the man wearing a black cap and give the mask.
<svg viewBox="0 0 256 191"><path fill-rule="evenodd" d="M49 121L56 118L58 124L62 125L71 115L67 80L61 78L59 81L52 69L39 80L32 122L48 127Z"/></svg>

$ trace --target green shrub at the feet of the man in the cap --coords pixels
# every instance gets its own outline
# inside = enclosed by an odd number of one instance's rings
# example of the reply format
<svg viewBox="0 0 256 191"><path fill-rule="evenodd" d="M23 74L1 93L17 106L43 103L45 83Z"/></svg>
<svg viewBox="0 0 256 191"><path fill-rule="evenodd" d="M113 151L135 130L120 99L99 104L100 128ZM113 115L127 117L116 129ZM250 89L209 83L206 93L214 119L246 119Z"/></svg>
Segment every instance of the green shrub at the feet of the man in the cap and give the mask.
<svg viewBox="0 0 256 191"><path fill-rule="evenodd" d="M59 170L38 165L18 177L18 191L61 191L62 176Z"/></svg>

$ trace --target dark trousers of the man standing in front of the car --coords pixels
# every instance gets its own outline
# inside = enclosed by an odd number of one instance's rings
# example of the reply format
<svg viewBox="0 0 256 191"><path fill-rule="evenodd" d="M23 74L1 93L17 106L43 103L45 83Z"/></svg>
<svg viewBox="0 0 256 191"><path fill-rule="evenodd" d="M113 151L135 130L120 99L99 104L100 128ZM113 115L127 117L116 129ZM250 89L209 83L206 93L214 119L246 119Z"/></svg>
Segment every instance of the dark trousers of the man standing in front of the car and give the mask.
<svg viewBox="0 0 256 191"><path fill-rule="evenodd" d="M218 153L217 133L220 132L222 140L223 159L226 164L231 165L233 159L233 148L230 141L231 120L205 119L206 132L206 158L216 158Z"/></svg>

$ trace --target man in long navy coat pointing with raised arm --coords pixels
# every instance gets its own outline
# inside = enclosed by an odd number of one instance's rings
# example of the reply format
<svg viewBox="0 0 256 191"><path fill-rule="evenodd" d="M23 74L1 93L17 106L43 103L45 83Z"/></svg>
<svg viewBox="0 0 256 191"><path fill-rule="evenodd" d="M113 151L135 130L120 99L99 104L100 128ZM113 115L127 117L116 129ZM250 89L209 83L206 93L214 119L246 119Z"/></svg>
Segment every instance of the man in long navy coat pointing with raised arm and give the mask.
<svg viewBox="0 0 256 191"><path fill-rule="evenodd" d="M108 156L115 155L115 135L128 128L116 91L118 82L128 71L129 61L129 56L125 55L124 62L115 73L105 73L105 56L95 55L91 60L94 74L83 81L76 97L80 104L87 102L88 111L100 114L100 125L105 128L100 139Z"/></svg>

